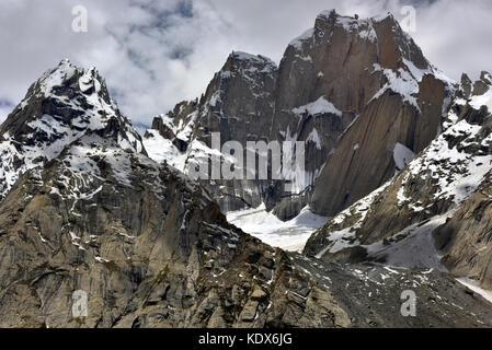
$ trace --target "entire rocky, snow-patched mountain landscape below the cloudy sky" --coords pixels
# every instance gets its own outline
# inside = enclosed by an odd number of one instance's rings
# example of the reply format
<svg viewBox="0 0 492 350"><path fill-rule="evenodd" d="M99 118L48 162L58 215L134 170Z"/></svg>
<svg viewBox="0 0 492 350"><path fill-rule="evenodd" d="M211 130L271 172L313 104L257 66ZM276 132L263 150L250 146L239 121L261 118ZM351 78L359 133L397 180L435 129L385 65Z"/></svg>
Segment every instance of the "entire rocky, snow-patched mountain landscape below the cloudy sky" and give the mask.
<svg viewBox="0 0 492 350"><path fill-rule="evenodd" d="M62 60L0 126L0 327L492 327L491 112L391 14L231 52L144 136ZM193 180L214 133L305 166Z"/></svg>

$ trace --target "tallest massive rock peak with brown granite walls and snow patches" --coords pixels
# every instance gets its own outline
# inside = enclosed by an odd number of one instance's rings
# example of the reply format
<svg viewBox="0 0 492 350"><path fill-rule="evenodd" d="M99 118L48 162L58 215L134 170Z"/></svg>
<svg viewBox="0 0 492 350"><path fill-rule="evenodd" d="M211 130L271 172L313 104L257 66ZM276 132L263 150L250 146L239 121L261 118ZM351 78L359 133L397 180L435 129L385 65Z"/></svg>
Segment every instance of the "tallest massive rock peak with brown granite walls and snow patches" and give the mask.
<svg viewBox="0 0 492 350"><path fill-rule="evenodd" d="M335 132L316 126L331 142L323 141L317 155L307 152L309 162L316 160L307 200L329 217L379 187L434 139L450 93L392 15L359 20L334 11L321 13L314 27L289 45L278 81L279 128L287 121L289 131L296 130L290 110L317 98L330 101L342 121ZM307 110L299 125L311 117ZM302 133L297 130L296 137ZM282 206L276 211L285 217Z"/></svg>

